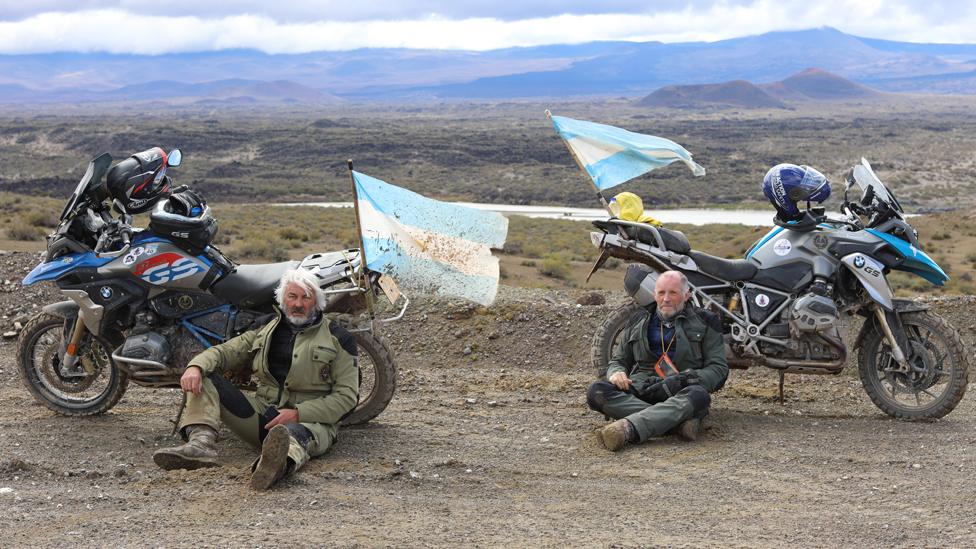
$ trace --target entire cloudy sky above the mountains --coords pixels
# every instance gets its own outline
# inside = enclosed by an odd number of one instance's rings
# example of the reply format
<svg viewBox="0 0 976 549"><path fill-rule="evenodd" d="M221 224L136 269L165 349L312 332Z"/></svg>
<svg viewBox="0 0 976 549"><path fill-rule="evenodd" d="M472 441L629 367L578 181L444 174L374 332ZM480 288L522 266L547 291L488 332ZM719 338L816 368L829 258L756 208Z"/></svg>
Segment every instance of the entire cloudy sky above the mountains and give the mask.
<svg viewBox="0 0 976 549"><path fill-rule="evenodd" d="M0 54L489 50L592 40L713 41L821 26L909 42L976 43L976 2L0 0Z"/></svg>

